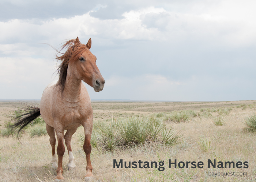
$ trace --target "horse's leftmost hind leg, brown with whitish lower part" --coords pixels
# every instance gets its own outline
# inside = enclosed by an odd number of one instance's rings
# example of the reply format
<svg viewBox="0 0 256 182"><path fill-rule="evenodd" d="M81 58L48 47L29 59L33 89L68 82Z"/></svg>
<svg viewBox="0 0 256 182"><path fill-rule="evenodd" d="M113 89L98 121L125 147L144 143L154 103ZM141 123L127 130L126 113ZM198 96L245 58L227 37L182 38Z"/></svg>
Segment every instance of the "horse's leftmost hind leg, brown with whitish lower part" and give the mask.
<svg viewBox="0 0 256 182"><path fill-rule="evenodd" d="M46 131L50 137L50 145L52 146L52 168L57 169L58 167L58 161L55 154L55 144L56 144L56 138L54 133L54 128L46 124Z"/></svg>

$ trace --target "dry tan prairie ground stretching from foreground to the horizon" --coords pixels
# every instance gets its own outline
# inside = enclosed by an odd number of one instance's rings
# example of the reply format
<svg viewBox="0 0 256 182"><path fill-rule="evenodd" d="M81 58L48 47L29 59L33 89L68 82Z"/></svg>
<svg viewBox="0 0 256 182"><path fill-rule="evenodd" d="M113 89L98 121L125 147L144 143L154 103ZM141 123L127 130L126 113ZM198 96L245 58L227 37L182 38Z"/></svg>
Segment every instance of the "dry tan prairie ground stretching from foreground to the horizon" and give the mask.
<svg viewBox="0 0 256 182"><path fill-rule="evenodd" d="M39 104L39 102L37 103ZM52 169L52 150L49 136L33 135L35 123L27 127L19 143L15 134L4 135L8 122L14 122L19 102L0 102L0 181L1 182L52 182L56 170ZM104 143L92 145L91 162L95 182L254 182L256 181L256 134L245 128L245 120L256 112L256 100L230 102L92 102L95 132L101 126L139 119L140 122L153 118L180 136L180 141L166 144L160 138L153 140L148 135L144 142L132 145L118 144L107 147ZM97 126L97 127L96 127ZM119 125L118 125L119 126ZM103 131L102 131L103 132ZM86 156L80 147L79 127L72 137L71 146L76 169L69 171L68 151L63 157L63 177L67 182L82 182L86 174ZM118 134L119 137L121 134ZM99 135L94 135L94 137ZM151 138L150 138L151 137ZM94 138L95 139L95 138ZM101 138L102 139L102 138ZM103 140L103 139L102 139ZM57 147L57 143L56 143ZM123 168L113 168L123 159ZM171 162L177 160L177 168ZM234 162L234 168L208 168L208 159L218 162ZM125 168L124 162L157 162L157 168ZM164 170L158 170L164 161ZM203 167L178 167L179 162L203 162ZM242 162L242 167L236 166ZM248 168L244 165L248 162ZM138 163L137 163L138 164ZM202 164L202 163L201 163ZM216 166L217 166L216 165ZM217 174L216 176L209 174ZM219 175L218 175L219 173ZM233 175L227 175L232 173ZM222 175L223 174L223 175ZM226 175L225 175L226 174ZM234 175L235 174L235 175ZM241 174L241 175L240 175Z"/></svg>

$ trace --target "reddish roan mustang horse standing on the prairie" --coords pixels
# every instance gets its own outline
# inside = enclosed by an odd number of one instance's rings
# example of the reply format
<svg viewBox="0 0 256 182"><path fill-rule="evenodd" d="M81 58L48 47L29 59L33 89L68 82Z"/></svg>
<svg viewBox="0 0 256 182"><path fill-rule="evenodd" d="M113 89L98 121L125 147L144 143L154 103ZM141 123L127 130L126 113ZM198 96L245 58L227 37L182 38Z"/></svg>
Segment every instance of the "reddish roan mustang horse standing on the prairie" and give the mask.
<svg viewBox="0 0 256 182"><path fill-rule="evenodd" d="M69 155L68 169L72 170L76 166L71 149L71 138L79 126L84 128L83 150L86 154L86 175L84 179L86 181L93 179L93 167L90 159L93 109L90 96L86 87L82 84L82 80L93 87L96 92L103 90L105 80L96 65L97 58L90 52L90 48L91 38L86 45L80 43L78 37L66 41L60 51L64 49L67 49L67 51L61 53L61 56L56 55L57 62L60 61L57 68L59 80L46 86L39 108L26 104L23 108L26 113L18 118L18 122L12 126L12 128L19 128L19 135L22 128L38 116L42 116L52 146L52 167L57 172L54 181L64 181L62 176L62 160L65 152L64 140ZM54 130L58 140L58 161L55 154L56 138ZM64 130L67 130L65 135Z"/></svg>

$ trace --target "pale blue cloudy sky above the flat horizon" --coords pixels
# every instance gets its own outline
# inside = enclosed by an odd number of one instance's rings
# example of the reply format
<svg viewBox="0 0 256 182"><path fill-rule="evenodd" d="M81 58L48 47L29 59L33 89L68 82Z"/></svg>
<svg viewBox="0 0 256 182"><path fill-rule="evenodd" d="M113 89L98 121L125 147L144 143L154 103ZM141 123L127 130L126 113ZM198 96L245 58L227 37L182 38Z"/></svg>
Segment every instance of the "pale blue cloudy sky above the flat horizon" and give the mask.
<svg viewBox="0 0 256 182"><path fill-rule="evenodd" d="M91 99L255 100L256 1L1 0L0 99L40 99L79 36L105 87Z"/></svg>

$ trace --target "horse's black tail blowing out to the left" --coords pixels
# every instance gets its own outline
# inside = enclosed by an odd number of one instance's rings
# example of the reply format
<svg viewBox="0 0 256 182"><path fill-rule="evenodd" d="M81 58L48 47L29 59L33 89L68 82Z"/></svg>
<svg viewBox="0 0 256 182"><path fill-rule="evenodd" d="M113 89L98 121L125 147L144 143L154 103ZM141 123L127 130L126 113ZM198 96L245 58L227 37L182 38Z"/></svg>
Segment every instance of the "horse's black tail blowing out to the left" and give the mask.
<svg viewBox="0 0 256 182"><path fill-rule="evenodd" d="M14 130L19 128L19 131L17 134L18 138L19 138L20 130L22 130L25 126L27 126L35 118L37 118L38 116L41 115L39 107L35 107L29 103L22 103L22 105L23 106L20 109L26 113L16 117L15 119L18 121L15 124L10 126Z"/></svg>

